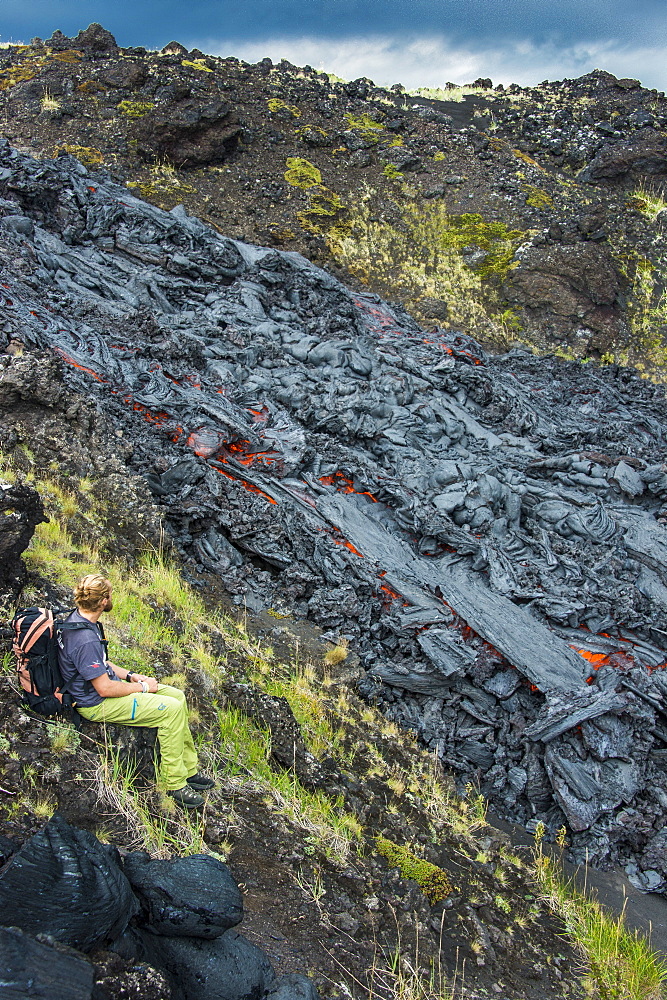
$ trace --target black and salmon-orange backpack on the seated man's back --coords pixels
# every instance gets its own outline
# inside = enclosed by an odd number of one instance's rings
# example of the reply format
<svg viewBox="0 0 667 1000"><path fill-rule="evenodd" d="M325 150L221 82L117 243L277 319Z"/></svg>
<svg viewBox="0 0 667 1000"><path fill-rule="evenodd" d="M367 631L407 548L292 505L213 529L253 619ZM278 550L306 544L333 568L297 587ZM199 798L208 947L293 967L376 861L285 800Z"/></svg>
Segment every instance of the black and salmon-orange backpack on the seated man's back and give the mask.
<svg viewBox="0 0 667 1000"><path fill-rule="evenodd" d="M69 611L56 611L58 618ZM66 716L78 719L74 701L60 672L58 663L58 632L90 628L99 638L95 626L88 622L56 620L49 608L22 608L12 619L13 648L22 700L26 708L38 715ZM102 626L99 626L104 640Z"/></svg>

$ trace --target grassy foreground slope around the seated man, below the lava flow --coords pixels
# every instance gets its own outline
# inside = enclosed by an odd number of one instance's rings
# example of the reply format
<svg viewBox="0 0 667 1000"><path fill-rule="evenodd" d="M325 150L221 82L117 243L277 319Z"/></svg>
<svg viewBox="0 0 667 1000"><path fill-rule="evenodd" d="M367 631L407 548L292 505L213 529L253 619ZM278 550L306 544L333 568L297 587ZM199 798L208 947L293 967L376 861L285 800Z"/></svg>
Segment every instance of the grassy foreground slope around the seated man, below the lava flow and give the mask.
<svg viewBox="0 0 667 1000"><path fill-rule="evenodd" d="M22 471L3 461L3 480L31 483L48 515L26 553L22 601L67 604L72 580L108 573L112 658L150 664L188 691L218 788L201 814L183 815L155 789L142 736L17 711L7 650L8 835L22 840L59 809L126 849L228 859L245 886L251 939L283 942L272 955L279 968L309 968L327 996L663 996L661 960L563 879L539 831L532 848L512 848L487 825L474 788L457 790L432 754L351 691L344 646L314 634L299 645L281 629L272 648L251 619L205 599L203 580L184 583L168 553L137 549L119 561L94 480L45 475L22 455ZM136 485L125 485L131 500Z"/></svg>

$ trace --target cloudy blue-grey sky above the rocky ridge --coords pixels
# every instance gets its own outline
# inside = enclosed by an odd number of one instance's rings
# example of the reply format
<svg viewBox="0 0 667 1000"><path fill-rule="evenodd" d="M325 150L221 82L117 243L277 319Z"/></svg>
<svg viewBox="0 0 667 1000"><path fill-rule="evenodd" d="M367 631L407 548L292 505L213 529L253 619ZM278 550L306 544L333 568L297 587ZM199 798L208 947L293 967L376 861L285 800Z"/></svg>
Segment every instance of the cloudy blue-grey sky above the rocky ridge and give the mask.
<svg viewBox="0 0 667 1000"><path fill-rule="evenodd" d="M383 86L526 85L598 68L667 90L667 0L0 0L2 42L91 21L123 46L176 39Z"/></svg>

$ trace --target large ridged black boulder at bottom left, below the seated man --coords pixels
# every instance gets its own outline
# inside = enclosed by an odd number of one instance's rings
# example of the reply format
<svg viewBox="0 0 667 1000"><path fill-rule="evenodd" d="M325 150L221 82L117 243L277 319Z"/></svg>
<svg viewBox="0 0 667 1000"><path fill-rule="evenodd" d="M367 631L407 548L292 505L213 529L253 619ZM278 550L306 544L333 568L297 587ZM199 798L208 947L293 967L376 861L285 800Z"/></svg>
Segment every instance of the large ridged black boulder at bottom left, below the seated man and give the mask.
<svg viewBox="0 0 667 1000"><path fill-rule="evenodd" d="M56 813L0 876L0 911L29 934L90 951L138 912L118 853Z"/></svg>

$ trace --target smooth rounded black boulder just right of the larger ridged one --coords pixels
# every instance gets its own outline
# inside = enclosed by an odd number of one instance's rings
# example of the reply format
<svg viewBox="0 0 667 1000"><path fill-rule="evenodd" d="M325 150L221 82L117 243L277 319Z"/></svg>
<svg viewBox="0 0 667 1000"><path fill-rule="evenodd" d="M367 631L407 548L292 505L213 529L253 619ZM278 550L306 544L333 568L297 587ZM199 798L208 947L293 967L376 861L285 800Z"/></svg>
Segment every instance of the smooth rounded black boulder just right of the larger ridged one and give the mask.
<svg viewBox="0 0 667 1000"><path fill-rule="evenodd" d="M125 858L124 870L154 934L210 940L243 919L232 873L208 854L153 861L138 852Z"/></svg>

